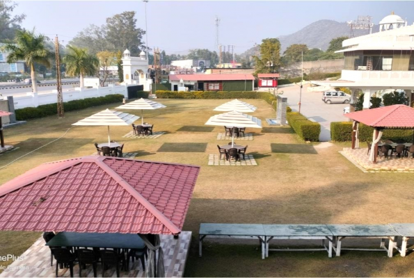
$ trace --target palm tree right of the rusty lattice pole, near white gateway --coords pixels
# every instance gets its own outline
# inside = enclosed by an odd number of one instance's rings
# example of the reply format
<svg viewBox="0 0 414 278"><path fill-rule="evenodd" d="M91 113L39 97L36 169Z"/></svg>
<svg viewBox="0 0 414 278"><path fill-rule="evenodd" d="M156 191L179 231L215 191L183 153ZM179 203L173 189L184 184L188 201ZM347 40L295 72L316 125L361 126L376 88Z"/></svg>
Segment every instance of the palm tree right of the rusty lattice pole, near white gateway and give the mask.
<svg viewBox="0 0 414 278"><path fill-rule="evenodd" d="M66 64L66 74L79 76L81 88L83 88L83 77L95 75L99 67L99 60L83 48L67 46L68 54L63 58Z"/></svg>

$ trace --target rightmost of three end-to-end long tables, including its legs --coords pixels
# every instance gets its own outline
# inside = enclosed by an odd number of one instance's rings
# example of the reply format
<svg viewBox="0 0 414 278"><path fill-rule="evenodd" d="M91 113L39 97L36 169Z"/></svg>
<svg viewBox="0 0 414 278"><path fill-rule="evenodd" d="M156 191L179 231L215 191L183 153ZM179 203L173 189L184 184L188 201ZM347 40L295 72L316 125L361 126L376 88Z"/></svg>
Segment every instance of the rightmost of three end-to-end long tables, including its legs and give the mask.
<svg viewBox="0 0 414 278"><path fill-rule="evenodd" d="M334 236L335 244L333 250L336 256L341 255L341 250L359 250L359 251L386 251L388 256L392 257L392 251L397 247L397 231L389 224L380 225L360 225L360 224L328 224L326 225ZM381 239L380 249L373 248L342 248L342 240L345 238L379 238ZM385 247L385 240L390 240L388 248Z"/></svg>

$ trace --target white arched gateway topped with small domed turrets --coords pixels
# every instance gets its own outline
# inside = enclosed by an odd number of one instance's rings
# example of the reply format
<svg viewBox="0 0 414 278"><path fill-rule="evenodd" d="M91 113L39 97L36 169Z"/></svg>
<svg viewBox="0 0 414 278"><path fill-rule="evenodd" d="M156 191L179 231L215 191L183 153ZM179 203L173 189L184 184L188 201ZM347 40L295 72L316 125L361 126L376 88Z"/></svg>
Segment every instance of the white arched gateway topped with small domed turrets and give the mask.
<svg viewBox="0 0 414 278"><path fill-rule="evenodd" d="M152 79L148 74L148 59L145 52L141 51L139 57L132 57L131 52L125 49L122 57L122 70L124 82L122 84L144 85L144 90L151 90Z"/></svg>

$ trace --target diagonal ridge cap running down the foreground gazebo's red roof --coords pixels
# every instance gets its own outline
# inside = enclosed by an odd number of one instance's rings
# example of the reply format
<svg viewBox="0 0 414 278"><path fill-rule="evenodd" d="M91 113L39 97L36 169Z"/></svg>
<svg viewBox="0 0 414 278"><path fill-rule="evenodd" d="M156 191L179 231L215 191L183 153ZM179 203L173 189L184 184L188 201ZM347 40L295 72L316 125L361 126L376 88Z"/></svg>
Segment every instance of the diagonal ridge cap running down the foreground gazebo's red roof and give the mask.
<svg viewBox="0 0 414 278"><path fill-rule="evenodd" d="M166 215L161 213L155 206L153 206L147 199L145 199L138 191L135 190L125 179L122 179L119 174L117 174L109 165L104 163L106 158L99 159L95 163L102 168L107 174L109 174L113 179L115 179L129 194L132 195L140 204L145 206L155 216L162 224L164 224L173 234L180 234L180 229L175 226L171 220L166 218Z"/></svg>

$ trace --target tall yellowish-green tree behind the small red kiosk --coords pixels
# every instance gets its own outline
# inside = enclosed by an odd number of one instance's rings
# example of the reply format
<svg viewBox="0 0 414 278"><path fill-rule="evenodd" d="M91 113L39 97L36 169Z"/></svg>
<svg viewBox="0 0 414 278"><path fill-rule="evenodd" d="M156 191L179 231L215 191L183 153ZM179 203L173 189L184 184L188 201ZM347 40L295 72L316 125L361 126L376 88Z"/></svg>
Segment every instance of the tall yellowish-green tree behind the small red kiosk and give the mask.
<svg viewBox="0 0 414 278"><path fill-rule="evenodd" d="M280 67L280 42L276 38L267 38L260 44L260 57L253 56L257 73L276 72Z"/></svg>

